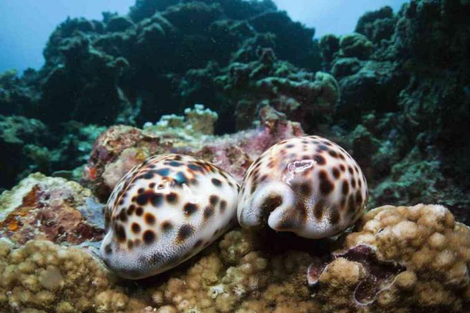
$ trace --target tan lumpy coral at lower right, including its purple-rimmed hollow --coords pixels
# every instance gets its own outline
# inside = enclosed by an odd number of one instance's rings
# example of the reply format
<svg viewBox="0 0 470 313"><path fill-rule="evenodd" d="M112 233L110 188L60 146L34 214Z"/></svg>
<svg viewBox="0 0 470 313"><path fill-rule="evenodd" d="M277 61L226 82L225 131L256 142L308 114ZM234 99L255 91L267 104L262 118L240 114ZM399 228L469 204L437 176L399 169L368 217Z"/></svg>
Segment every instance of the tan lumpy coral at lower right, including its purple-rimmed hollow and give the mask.
<svg viewBox="0 0 470 313"><path fill-rule="evenodd" d="M346 251L364 246L375 258L365 263L358 262L360 253L337 258L323 270L319 299L324 310L460 312L470 301L470 229L445 207L373 209L346 238ZM343 264L340 270L337 263ZM384 265L397 270L377 270Z"/></svg>

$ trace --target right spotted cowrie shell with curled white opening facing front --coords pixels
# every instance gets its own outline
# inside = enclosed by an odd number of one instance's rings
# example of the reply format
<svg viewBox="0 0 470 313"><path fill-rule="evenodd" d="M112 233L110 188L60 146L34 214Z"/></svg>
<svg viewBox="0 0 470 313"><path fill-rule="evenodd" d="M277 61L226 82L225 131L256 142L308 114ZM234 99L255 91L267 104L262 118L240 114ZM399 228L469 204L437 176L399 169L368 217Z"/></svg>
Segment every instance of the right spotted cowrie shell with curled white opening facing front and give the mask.
<svg viewBox="0 0 470 313"><path fill-rule="evenodd" d="M361 216L368 197L361 169L319 136L274 144L247 170L238 197L242 227L267 225L306 238L338 234Z"/></svg>

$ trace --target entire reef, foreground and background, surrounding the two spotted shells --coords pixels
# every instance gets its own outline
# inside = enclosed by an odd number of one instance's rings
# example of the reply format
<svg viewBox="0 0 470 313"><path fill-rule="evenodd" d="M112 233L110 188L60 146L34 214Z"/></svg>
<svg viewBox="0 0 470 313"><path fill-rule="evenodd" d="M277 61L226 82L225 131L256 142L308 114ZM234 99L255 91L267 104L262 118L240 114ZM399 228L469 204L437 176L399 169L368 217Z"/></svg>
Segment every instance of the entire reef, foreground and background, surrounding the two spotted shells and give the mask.
<svg viewBox="0 0 470 313"><path fill-rule="evenodd" d="M468 312L468 12L411 0L319 41L270 0L137 0L60 24L43 68L0 75L0 311ZM371 211L349 234L235 228L142 281L88 254L101 204L150 155L241 181L305 133L364 171Z"/></svg>

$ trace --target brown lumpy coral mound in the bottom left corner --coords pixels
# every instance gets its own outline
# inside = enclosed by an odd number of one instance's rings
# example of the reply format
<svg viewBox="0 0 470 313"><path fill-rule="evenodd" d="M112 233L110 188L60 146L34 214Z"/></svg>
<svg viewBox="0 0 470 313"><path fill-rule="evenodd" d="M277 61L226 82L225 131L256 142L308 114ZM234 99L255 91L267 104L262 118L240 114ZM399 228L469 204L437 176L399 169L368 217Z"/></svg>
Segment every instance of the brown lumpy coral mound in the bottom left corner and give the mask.
<svg viewBox="0 0 470 313"><path fill-rule="evenodd" d="M120 310L127 296L114 292L106 303L110 285L106 270L82 249L43 240L12 249L0 241L1 312Z"/></svg>

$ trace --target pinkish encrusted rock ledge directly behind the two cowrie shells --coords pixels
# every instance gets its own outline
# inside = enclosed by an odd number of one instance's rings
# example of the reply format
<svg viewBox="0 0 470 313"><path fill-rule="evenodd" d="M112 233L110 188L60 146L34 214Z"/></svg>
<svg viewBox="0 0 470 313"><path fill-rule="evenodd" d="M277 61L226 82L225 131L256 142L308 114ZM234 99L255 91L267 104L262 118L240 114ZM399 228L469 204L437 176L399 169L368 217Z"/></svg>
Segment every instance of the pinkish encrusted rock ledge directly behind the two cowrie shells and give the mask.
<svg viewBox="0 0 470 313"><path fill-rule="evenodd" d="M272 108L263 108L260 114L261 122L256 129L221 136L188 134L183 129L141 130L131 126L111 126L95 142L83 182L105 201L129 169L151 155L162 153L202 158L241 182L247 167L267 148L290 137L304 135L299 123L285 120Z"/></svg>

